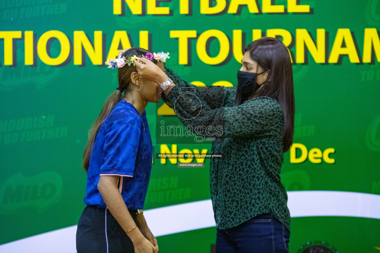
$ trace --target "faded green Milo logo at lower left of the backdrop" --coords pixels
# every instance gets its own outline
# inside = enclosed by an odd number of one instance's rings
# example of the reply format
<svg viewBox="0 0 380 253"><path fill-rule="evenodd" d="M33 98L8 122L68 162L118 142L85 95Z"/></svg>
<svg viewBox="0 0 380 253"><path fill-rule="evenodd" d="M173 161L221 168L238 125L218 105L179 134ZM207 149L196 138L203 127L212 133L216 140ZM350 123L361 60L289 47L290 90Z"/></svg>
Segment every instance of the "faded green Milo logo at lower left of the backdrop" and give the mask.
<svg viewBox="0 0 380 253"><path fill-rule="evenodd" d="M54 171L32 177L21 172L8 178L0 188L0 209L14 211L34 206L44 209L55 203L62 193L62 178Z"/></svg>

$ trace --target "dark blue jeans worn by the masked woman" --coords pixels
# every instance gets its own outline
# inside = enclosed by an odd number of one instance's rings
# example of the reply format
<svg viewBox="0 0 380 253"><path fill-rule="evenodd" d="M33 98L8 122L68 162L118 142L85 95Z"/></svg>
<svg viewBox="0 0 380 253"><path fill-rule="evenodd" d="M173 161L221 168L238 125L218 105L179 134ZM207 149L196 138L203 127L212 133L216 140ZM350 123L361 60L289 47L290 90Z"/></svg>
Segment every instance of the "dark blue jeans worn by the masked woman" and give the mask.
<svg viewBox="0 0 380 253"><path fill-rule="evenodd" d="M228 229L218 229L217 253L289 253L289 230L271 214L260 214Z"/></svg>

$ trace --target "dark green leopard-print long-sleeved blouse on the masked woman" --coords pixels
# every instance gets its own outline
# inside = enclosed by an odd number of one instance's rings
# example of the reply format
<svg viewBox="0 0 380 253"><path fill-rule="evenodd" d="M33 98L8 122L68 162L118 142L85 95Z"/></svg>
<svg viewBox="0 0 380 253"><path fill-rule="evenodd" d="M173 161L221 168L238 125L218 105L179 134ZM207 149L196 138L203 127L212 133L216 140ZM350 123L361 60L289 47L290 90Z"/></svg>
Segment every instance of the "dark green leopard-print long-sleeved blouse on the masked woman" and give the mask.
<svg viewBox="0 0 380 253"><path fill-rule="evenodd" d="M217 227L232 228L256 215L271 213L289 229L288 196L280 181L284 125L280 104L270 97L257 97L233 106L236 87L201 88L180 79L169 68L165 73L176 86L162 98L169 107L175 107L185 126L223 126L223 134L212 142L211 152L224 153L224 159L210 160ZM184 86L194 87L199 99L184 94Z"/></svg>

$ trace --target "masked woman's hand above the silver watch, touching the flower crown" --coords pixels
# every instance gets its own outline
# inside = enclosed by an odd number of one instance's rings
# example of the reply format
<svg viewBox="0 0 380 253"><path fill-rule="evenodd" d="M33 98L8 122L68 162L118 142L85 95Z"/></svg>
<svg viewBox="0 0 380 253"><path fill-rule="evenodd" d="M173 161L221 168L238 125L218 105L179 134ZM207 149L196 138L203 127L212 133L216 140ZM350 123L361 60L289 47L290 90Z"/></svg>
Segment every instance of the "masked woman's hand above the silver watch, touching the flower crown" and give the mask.
<svg viewBox="0 0 380 253"><path fill-rule="evenodd" d="M135 63L137 73L142 79L152 81L160 85L169 79L169 77L152 61L147 60L144 57L133 60Z"/></svg>

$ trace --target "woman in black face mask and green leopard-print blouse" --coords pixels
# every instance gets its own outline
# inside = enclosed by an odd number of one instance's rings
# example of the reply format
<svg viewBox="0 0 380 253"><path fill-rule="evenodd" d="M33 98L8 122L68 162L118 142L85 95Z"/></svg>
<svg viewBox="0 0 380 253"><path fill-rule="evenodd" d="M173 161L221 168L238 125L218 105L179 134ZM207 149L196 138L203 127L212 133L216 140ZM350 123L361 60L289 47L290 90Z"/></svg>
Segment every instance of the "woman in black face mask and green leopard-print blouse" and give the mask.
<svg viewBox="0 0 380 253"><path fill-rule="evenodd" d="M136 63L139 74L161 84L164 101L182 123L192 129L204 126L208 130L203 136L218 137L211 152L224 153L224 159L210 160L217 252L288 252L288 197L279 176L294 127L287 47L275 38L250 43L237 73L237 88L195 88L199 100L181 93L181 87L192 85L171 69L164 73L144 63ZM220 126L222 135L215 136L212 129Z"/></svg>

